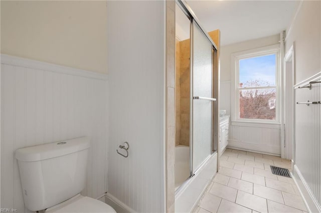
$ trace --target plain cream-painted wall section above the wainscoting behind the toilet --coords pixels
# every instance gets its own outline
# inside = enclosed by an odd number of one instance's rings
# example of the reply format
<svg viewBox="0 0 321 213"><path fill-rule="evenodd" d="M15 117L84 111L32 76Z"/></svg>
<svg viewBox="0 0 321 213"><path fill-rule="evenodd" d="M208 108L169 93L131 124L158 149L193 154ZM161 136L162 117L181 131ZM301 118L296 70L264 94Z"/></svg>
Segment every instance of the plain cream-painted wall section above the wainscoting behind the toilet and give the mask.
<svg viewBox="0 0 321 213"><path fill-rule="evenodd" d="M107 73L106 1L1 1L1 53Z"/></svg>

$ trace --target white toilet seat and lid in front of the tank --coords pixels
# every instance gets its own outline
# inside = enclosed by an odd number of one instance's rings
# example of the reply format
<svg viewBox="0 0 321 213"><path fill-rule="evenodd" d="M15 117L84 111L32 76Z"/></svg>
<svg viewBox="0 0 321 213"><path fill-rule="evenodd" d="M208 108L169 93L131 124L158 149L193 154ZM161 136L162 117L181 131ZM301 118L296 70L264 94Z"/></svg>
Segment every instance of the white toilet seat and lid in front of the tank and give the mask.
<svg viewBox="0 0 321 213"><path fill-rule="evenodd" d="M45 213L54 212L116 212L110 205L88 196L77 194L72 198L54 205L45 210Z"/></svg>

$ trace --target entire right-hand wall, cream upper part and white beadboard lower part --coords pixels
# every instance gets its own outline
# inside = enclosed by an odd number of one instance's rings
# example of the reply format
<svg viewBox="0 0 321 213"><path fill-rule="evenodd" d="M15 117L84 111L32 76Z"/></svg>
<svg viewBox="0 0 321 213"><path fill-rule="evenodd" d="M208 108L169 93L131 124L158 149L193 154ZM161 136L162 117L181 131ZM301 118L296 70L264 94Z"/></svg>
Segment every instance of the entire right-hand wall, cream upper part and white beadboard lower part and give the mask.
<svg viewBox="0 0 321 213"><path fill-rule="evenodd" d="M321 1L303 0L286 34L286 50L294 42L294 101L318 101L320 85L313 85L311 90L297 86L321 80L314 79L321 76ZM312 212L321 211L320 107L295 104L294 176Z"/></svg>

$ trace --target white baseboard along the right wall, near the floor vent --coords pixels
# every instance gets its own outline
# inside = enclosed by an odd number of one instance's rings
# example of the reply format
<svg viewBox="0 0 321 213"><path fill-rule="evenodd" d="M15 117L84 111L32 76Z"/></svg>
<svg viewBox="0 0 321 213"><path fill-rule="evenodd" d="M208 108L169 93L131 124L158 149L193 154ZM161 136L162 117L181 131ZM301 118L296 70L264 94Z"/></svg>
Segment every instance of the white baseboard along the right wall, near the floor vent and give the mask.
<svg viewBox="0 0 321 213"><path fill-rule="evenodd" d="M306 183L303 175L301 174L301 171L299 168L294 164L293 166L293 180L296 184L296 186L299 189L299 192L301 196L303 197L303 201L308 208L309 212L321 212L321 205L316 200L315 196L313 195L310 187Z"/></svg>

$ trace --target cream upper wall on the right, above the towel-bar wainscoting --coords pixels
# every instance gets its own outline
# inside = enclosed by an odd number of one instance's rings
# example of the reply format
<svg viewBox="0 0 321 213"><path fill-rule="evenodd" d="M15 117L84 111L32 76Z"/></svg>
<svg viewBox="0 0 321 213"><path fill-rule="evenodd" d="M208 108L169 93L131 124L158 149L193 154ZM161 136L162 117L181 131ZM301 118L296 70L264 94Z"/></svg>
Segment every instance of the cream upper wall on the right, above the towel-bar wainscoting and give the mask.
<svg viewBox="0 0 321 213"><path fill-rule="evenodd" d="M294 44L294 84L318 73L321 68L321 1L304 0L286 30L285 50Z"/></svg>

